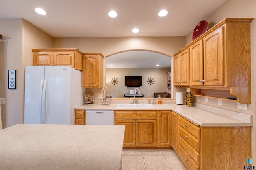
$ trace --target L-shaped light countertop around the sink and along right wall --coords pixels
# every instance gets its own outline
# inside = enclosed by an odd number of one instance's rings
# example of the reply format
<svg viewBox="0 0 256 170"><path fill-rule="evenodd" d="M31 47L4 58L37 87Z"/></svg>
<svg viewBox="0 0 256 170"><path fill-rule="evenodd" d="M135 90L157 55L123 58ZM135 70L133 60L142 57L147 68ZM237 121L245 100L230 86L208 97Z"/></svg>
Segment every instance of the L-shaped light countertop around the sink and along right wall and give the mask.
<svg viewBox="0 0 256 170"><path fill-rule="evenodd" d="M208 107L200 109L198 107L188 107L186 105L177 104L155 104L155 108L117 108L116 103L108 106L102 104L84 104L76 107L77 110L172 110L176 113L186 117L190 121L200 126L252 126L252 115L246 115L225 109L218 109L216 107ZM215 111L216 110L216 111Z"/></svg>

